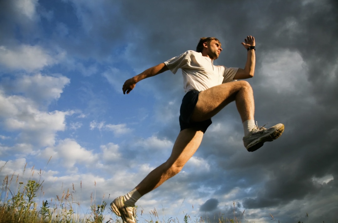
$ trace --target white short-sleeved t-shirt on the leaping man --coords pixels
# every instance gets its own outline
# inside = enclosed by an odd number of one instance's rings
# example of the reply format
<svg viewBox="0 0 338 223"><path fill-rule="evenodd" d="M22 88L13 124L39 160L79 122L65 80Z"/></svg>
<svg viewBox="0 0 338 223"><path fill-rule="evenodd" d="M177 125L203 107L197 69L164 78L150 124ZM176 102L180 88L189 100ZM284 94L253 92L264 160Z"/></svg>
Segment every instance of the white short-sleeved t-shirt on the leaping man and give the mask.
<svg viewBox="0 0 338 223"><path fill-rule="evenodd" d="M168 69L176 74L182 70L185 92L204 91L213 86L234 80L238 68L214 66L213 60L193 50L164 62Z"/></svg>

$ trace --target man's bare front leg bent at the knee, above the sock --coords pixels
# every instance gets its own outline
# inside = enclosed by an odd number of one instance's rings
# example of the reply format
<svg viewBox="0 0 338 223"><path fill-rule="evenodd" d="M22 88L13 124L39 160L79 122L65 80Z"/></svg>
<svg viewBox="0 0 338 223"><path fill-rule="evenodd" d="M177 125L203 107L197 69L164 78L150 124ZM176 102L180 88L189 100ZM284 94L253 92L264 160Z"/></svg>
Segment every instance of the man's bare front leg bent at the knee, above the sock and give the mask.
<svg viewBox="0 0 338 223"><path fill-rule="evenodd" d="M224 83L200 92L191 120L199 122L210 119L232 101L236 101L242 122L254 120L254 93L250 84L243 80Z"/></svg>

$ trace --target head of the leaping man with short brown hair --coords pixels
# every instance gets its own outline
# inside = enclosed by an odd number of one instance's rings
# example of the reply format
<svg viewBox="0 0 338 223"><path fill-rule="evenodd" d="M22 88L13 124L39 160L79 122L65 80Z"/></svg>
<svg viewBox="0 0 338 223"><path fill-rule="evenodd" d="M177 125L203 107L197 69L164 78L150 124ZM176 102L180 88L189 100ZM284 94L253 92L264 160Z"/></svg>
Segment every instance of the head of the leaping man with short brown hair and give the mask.
<svg viewBox="0 0 338 223"><path fill-rule="evenodd" d="M197 44L196 51L211 59L217 59L222 51L221 43L214 37L203 37Z"/></svg>

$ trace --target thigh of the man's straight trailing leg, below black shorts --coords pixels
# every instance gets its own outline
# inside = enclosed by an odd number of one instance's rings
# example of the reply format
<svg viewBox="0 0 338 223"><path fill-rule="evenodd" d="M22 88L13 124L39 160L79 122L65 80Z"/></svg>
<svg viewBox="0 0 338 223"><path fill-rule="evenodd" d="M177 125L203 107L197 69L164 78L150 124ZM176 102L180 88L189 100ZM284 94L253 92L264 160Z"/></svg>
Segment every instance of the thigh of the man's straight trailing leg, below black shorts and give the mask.
<svg viewBox="0 0 338 223"><path fill-rule="evenodd" d="M203 132L196 131L193 128L180 131L167 164L169 166L183 167L198 149L202 138Z"/></svg>

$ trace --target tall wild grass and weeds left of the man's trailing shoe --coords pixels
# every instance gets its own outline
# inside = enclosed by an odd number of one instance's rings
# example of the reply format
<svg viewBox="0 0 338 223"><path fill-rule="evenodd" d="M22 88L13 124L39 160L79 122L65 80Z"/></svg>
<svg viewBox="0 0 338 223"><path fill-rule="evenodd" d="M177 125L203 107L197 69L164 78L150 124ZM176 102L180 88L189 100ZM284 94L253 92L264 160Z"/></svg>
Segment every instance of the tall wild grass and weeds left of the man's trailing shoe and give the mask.
<svg viewBox="0 0 338 223"><path fill-rule="evenodd" d="M49 159L50 161L50 159ZM48 161L48 163L49 163ZM48 164L47 163L47 164ZM6 165L6 164L5 164ZM5 166L4 165L4 166ZM4 167L3 166L3 167ZM26 171L27 163L23 174ZM3 167L0 168L0 172ZM19 174L7 175L4 177L0 191L0 223L103 223L107 215L106 202L97 204L95 196L90 195L90 210L85 214L76 213L81 210L80 202L75 201L75 188L64 190L62 195L56 198L42 200L43 172L38 171L38 180L33 180L34 167L31 169L31 179L26 182L19 181ZM96 185L96 182L95 182ZM82 183L80 184L82 189ZM117 219L108 219L106 222L119 222Z"/></svg>

